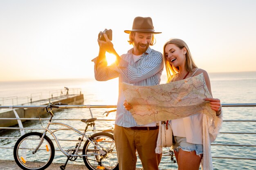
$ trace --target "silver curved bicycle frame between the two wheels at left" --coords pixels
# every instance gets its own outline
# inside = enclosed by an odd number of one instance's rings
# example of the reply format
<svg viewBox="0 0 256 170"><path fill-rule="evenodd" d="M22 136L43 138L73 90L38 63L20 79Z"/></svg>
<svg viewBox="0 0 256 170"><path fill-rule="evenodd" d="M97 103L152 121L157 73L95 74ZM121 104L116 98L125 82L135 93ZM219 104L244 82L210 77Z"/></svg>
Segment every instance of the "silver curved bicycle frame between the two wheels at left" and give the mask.
<svg viewBox="0 0 256 170"><path fill-rule="evenodd" d="M102 147L100 144L94 144L94 141L92 141L92 140L90 139L90 137L88 137L87 135L85 135L88 125L87 125L87 127L85 128L85 130L84 130L83 133L82 133L81 131L79 131L79 130L77 130L76 128L73 128L72 126L69 126L69 125L67 125L67 124L58 123L58 122L52 123L53 113L51 112L51 110L50 110L50 114L51 114L51 119L49 120L49 122L48 122L48 124L47 124L47 126L46 126L46 128L45 128L45 130L44 130L44 132L43 132L43 135L42 135L42 137L41 137L41 140L40 140L38 146L36 147L36 149L33 151L33 153L35 153L35 152L38 150L38 148L41 146L41 144L43 143L43 139L44 139L44 137L45 137L45 135L46 135L47 132L49 132L49 133L52 135L52 137L54 137L58 148L59 148L59 149L61 150L61 152L62 152L64 155L66 155L66 156L70 156L70 157L85 157L85 156L89 156L89 155L78 155L78 154L77 154L78 151L79 151L79 148L80 148L80 146L81 146L81 143L82 143L84 137L85 137L87 140L89 140L96 148L99 149L99 153L94 153L93 155L105 155L105 154L107 153L107 152L105 152L105 151L103 151L103 150L101 149L101 148L103 148L103 147ZM52 131L52 130L49 128L49 126L50 126L50 125L54 125L54 124L56 124L56 125L61 125L61 126L65 126L65 127L67 127L67 128L59 128L59 129L57 129L57 130ZM72 130L72 131L77 132L77 133L79 133L80 135L82 135L81 140L79 141L78 146L76 147L76 152L75 152L75 154L68 154L67 152L65 152L65 150L63 150L63 148L61 147L61 144L60 144L59 141L58 141L58 138L57 138L56 135L54 134L54 132L56 132L56 131L58 131L58 130ZM100 147L101 147L101 148L100 148ZM90 154L90 155L92 155L92 154Z"/></svg>

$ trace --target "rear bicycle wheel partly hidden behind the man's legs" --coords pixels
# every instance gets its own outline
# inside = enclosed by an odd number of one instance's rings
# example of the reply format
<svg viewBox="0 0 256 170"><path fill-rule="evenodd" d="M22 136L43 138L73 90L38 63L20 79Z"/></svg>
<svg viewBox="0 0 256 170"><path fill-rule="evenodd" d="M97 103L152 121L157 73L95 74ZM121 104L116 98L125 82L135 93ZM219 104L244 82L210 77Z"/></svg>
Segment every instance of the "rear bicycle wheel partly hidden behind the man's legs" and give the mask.
<svg viewBox="0 0 256 170"><path fill-rule="evenodd" d="M91 138L94 144L107 153L99 155L99 149L87 140L83 146L83 155L88 155L83 157L85 166L89 170L119 170L113 135L107 132L99 132L92 135Z"/></svg>

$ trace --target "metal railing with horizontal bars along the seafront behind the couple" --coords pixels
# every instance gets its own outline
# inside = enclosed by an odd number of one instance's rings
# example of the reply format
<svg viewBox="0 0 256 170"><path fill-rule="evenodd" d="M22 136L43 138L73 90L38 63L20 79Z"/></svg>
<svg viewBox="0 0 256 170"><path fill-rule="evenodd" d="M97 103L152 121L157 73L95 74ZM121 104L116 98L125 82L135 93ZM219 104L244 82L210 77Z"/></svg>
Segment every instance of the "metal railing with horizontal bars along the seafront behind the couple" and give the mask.
<svg viewBox="0 0 256 170"><path fill-rule="evenodd" d="M91 108L116 108L116 105L60 105L59 108L67 109L67 108L88 108L90 110L91 117L94 117L92 114ZM222 107L256 107L256 104L222 104ZM45 106L0 106L0 108L45 108ZM38 120L39 118L0 118L0 120ZM49 120L48 118L41 118L41 120ZM81 119L52 119L52 120L72 120L72 121L80 121ZM114 119L97 119L97 121L114 121ZM256 120L223 120L224 122L256 122ZM21 121L20 121L21 122ZM42 130L43 128L23 128L20 126L19 128L15 127L0 127L1 129L9 129L9 130ZM79 129L80 130L80 129ZM83 129L81 129L83 130ZM92 131L102 131L104 129L95 129ZM254 132L220 132L220 134L256 134L256 130ZM18 139L19 137L0 137L0 139ZM60 139L63 141L76 141L76 140L67 140ZM212 146L242 146L242 147L256 147L256 144L253 145L244 145L244 144L211 144ZM0 148L8 148L13 149L13 147L0 147ZM256 157L252 158L243 158L243 157L213 157L217 159L247 159L247 160L256 160Z"/></svg>

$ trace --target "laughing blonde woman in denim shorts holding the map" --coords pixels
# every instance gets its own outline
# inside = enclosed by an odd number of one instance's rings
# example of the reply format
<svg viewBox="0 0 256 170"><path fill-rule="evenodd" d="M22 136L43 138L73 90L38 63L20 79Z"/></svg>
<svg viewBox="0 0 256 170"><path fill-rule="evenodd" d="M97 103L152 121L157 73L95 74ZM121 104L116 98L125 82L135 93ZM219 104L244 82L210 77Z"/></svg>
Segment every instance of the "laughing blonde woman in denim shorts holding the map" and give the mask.
<svg viewBox="0 0 256 170"><path fill-rule="evenodd" d="M206 71L198 68L191 57L189 47L180 39L171 39L164 44L164 63L169 82L193 77L203 73L207 88L211 93L209 76ZM213 170L211 159L211 142L213 142L222 124L222 107L219 99L205 98L211 109L216 112L213 120L199 113L193 116L171 120L174 141L172 148L178 163L179 170L199 170L202 168ZM127 102L126 109L130 109Z"/></svg>

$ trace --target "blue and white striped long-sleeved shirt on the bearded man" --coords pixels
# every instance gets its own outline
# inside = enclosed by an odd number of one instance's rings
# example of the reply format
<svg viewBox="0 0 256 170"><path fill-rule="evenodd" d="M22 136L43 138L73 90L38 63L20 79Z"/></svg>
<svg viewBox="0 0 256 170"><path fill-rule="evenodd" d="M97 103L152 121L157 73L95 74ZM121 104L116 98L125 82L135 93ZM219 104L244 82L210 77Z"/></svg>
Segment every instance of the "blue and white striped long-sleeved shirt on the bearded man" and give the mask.
<svg viewBox="0 0 256 170"><path fill-rule="evenodd" d="M135 86L154 86L160 83L160 77L164 68L162 53L148 47L145 53L134 62L132 50L121 55L118 65L107 66L106 60L100 61L98 57L94 58L94 76L98 81L107 81L119 77L119 97L117 102L117 115L115 124L122 127L139 126L132 114L124 108L124 92L121 86L122 82L133 84Z"/></svg>

